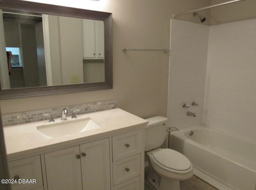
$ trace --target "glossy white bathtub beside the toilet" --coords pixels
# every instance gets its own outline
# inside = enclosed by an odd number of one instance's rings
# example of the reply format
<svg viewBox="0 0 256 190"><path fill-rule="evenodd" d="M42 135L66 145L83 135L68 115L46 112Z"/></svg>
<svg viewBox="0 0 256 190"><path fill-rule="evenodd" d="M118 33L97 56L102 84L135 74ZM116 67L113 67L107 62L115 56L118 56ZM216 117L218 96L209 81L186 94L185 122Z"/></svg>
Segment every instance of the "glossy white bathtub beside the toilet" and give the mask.
<svg viewBox="0 0 256 190"><path fill-rule="evenodd" d="M170 133L170 148L192 162L196 176L220 190L256 190L256 142L197 126Z"/></svg>

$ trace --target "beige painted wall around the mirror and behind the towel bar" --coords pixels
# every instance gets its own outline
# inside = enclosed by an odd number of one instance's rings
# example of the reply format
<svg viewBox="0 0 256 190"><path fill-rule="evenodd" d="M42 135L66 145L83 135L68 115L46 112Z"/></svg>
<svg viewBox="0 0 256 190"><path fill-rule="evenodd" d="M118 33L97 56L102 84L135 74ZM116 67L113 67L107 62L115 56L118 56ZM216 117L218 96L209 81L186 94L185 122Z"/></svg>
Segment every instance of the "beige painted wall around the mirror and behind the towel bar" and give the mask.
<svg viewBox="0 0 256 190"><path fill-rule="evenodd" d="M0 102L2 113L118 99L121 109L140 117L166 116L169 54L132 51L123 53L121 49L168 49L172 14L210 5L210 0L31 1L112 12L114 87L104 91L4 100ZM96 8L88 7L96 3ZM208 17L209 13L205 12L204 16ZM177 19L199 23L198 18L192 14ZM209 20L204 24L209 24Z"/></svg>

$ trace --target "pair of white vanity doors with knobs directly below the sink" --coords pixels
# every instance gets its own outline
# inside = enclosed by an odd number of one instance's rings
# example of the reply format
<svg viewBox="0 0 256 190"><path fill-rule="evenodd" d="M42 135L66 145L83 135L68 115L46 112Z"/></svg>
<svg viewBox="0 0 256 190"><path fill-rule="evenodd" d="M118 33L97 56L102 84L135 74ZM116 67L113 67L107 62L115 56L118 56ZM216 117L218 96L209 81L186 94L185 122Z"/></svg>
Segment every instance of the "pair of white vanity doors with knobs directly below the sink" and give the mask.
<svg viewBox="0 0 256 190"><path fill-rule="evenodd" d="M44 154L48 190L110 190L109 138Z"/></svg>

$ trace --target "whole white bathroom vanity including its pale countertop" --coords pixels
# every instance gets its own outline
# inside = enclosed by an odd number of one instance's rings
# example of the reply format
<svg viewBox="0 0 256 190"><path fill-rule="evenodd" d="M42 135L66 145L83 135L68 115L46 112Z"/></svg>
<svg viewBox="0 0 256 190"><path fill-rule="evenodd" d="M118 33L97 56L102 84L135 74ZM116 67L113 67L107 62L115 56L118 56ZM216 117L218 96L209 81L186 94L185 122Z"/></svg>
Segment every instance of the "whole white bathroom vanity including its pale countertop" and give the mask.
<svg viewBox="0 0 256 190"><path fill-rule="evenodd" d="M92 125L83 123L87 131L75 131L74 125L89 118L100 128L90 130ZM4 127L10 179L36 179L35 184L14 184L14 190L144 190L148 121L115 108L55 122ZM50 134L60 127L58 133L70 135L49 138L38 126L50 127Z"/></svg>

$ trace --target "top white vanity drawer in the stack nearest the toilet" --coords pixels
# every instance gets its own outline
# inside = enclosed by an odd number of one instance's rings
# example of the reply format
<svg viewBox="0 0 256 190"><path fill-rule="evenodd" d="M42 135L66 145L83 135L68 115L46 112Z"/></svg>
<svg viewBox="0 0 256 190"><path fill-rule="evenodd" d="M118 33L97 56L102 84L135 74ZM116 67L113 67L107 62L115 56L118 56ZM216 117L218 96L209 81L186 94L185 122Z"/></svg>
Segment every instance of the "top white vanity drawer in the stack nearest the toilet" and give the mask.
<svg viewBox="0 0 256 190"><path fill-rule="evenodd" d="M141 131L132 131L112 137L113 162L138 154L141 150Z"/></svg>

